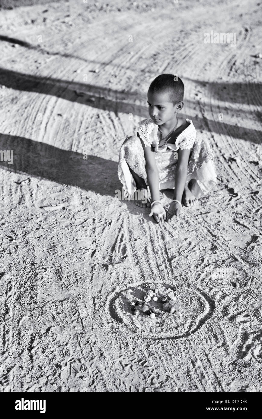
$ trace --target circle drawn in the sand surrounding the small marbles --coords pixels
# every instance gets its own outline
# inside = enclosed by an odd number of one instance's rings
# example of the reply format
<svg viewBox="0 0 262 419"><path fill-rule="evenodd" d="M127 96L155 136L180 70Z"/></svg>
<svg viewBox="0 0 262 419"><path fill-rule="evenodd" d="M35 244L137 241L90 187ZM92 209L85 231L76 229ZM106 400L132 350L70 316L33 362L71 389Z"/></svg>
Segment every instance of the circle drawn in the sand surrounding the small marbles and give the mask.
<svg viewBox="0 0 262 419"><path fill-rule="evenodd" d="M107 300L107 306L111 318L115 322L125 325L130 332L141 336L144 339L180 339L189 337L197 331L208 318L212 316L215 308L214 301L203 291L195 288L178 286L177 301L181 303L182 316L170 314L162 307L161 297L168 291L174 290L172 285L161 284L157 295L158 301L150 301L149 306L155 308L156 317L150 319L144 313L134 316L131 312L130 303L125 298L126 292L132 297L143 301L145 293L151 289L149 284L136 284L133 287L125 288L121 292L114 292ZM141 307L139 307L141 309ZM140 311L140 310L139 310Z"/></svg>

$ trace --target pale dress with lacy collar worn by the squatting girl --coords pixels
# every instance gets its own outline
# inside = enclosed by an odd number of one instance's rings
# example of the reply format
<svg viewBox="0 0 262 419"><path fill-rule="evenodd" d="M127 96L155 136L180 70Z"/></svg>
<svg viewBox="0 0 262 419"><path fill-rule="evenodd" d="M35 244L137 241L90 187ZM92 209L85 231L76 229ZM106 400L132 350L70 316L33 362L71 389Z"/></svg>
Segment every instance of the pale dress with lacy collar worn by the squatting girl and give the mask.
<svg viewBox="0 0 262 419"><path fill-rule="evenodd" d="M183 129L183 127L185 127ZM158 125L151 118L144 119L139 123L137 133L127 137L121 145L118 162L118 177L123 184L124 197L132 199L136 191L136 182L129 170L129 167L148 186L146 162L141 140L146 146L153 147L155 160L159 173L159 189L175 189L176 165L178 149L191 149L188 163L188 174L186 182L193 179L190 190L196 198L202 197L217 184L213 152L210 144L204 137L196 135L196 129L191 119L186 119L186 124L175 136L175 144L167 143L159 147L157 137ZM176 130L179 132L178 130ZM166 137L170 137L172 132ZM141 138L141 140L140 140ZM128 167L129 166L129 167Z"/></svg>

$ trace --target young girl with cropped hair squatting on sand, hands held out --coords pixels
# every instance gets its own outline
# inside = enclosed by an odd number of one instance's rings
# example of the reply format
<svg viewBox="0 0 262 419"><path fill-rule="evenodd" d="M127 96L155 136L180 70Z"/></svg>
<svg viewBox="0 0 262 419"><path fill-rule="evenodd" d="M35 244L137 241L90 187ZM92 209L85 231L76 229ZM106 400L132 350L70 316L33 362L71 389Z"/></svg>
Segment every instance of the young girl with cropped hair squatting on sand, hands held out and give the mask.
<svg viewBox="0 0 262 419"><path fill-rule="evenodd" d="M141 121L137 133L126 138L119 154L118 177L125 197L134 199L134 192L138 195L140 191L142 198L136 205L151 206L149 216L160 223L178 216L181 202L186 207L194 205L217 183L212 148L196 137L191 119L178 117L183 95L179 77L162 74L155 78L147 93L150 118ZM174 189L167 213L160 189Z"/></svg>

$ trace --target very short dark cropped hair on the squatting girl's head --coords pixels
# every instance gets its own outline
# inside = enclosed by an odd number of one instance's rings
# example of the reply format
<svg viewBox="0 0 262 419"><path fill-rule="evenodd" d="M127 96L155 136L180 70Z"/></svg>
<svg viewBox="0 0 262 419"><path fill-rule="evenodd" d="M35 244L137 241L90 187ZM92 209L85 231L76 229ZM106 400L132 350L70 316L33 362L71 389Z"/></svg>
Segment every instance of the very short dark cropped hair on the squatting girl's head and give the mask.
<svg viewBox="0 0 262 419"><path fill-rule="evenodd" d="M148 89L152 93L169 93L170 102L183 101L184 85L176 74L160 74L152 81Z"/></svg>

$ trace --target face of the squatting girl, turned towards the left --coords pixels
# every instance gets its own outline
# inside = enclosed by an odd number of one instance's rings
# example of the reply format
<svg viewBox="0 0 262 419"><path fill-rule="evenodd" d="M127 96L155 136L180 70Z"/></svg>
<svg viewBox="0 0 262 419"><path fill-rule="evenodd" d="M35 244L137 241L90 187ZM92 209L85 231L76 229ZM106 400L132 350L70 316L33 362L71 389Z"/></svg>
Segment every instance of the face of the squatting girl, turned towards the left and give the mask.
<svg viewBox="0 0 262 419"><path fill-rule="evenodd" d="M166 93L147 93L148 113L153 122L157 125L172 122L176 119L177 103L170 102L169 94Z"/></svg>

